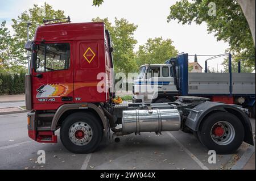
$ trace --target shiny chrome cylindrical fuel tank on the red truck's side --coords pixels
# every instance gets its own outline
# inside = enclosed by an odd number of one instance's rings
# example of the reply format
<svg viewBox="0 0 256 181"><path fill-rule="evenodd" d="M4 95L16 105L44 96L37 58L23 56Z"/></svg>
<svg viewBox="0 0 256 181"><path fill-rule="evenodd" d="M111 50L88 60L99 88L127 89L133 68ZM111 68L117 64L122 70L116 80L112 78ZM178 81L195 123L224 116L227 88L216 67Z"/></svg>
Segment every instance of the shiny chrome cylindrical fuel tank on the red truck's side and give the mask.
<svg viewBox="0 0 256 181"><path fill-rule="evenodd" d="M123 111L123 133L160 133L162 131L178 131L180 127L180 113L176 109Z"/></svg>

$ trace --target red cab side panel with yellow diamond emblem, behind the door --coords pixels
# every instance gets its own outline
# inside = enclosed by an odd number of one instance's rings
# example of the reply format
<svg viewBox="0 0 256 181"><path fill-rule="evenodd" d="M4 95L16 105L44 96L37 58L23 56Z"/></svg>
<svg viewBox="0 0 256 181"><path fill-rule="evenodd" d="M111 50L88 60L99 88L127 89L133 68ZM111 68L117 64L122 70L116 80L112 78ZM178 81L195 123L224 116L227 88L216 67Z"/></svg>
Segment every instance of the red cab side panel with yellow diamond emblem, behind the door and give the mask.
<svg viewBox="0 0 256 181"><path fill-rule="evenodd" d="M104 39L77 41L77 47L79 49L74 67L75 102L105 102L106 92L99 91L104 89L100 82L100 74L105 74Z"/></svg>

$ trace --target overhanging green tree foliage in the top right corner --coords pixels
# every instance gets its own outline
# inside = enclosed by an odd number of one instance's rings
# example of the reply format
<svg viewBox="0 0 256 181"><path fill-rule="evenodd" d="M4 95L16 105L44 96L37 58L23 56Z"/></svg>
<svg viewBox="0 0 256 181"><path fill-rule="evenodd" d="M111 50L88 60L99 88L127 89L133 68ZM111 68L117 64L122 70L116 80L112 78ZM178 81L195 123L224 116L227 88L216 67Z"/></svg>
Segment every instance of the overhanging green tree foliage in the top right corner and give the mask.
<svg viewBox="0 0 256 181"><path fill-rule="evenodd" d="M179 23L191 24L205 22L209 33L214 33L217 40L229 43L227 52L246 56L255 56L253 38L249 25L236 1L221 0L182 0L170 7L168 22L177 19ZM245 62L253 68L253 59Z"/></svg>

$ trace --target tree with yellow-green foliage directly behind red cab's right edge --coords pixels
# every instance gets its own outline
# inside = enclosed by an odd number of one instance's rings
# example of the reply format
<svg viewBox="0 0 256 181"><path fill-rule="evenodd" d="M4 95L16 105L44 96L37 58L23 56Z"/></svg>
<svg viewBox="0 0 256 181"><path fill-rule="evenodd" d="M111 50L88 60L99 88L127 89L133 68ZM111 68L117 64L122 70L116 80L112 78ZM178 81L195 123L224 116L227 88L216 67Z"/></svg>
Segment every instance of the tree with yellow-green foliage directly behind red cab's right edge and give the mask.
<svg viewBox="0 0 256 181"><path fill-rule="evenodd" d="M129 23L126 19L115 18L114 25L109 22L108 18L94 18L93 22L104 22L106 28L110 32L112 38L112 46L114 49L113 60L115 66L115 73L123 72L125 74L137 71L137 64L134 61L135 54L133 52L137 40L133 35L137 30L137 25Z"/></svg>

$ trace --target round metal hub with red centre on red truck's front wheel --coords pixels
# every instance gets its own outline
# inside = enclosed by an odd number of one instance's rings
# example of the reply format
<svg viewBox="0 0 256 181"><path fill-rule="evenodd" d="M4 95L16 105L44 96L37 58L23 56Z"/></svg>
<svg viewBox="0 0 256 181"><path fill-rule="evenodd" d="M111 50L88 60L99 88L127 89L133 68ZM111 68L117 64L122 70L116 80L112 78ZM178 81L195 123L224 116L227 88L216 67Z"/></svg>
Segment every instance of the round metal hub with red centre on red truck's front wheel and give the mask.
<svg viewBox="0 0 256 181"><path fill-rule="evenodd" d="M93 132L89 124L76 122L69 128L69 139L75 145L86 145L92 140Z"/></svg>

